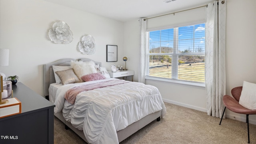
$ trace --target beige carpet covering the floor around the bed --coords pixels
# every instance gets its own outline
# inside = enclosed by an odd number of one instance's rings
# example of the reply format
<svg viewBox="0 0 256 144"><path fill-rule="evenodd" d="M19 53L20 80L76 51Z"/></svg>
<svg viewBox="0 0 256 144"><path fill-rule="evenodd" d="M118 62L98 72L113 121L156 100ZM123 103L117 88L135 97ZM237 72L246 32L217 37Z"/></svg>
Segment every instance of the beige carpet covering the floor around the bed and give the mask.
<svg viewBox="0 0 256 144"><path fill-rule="evenodd" d="M247 144L245 122L227 118L222 120L220 126L220 118L182 106L165 104L167 113L160 122L151 122L120 144ZM250 143L256 144L256 125L249 126ZM64 124L54 118L54 144L86 142L72 130L65 130Z"/></svg>

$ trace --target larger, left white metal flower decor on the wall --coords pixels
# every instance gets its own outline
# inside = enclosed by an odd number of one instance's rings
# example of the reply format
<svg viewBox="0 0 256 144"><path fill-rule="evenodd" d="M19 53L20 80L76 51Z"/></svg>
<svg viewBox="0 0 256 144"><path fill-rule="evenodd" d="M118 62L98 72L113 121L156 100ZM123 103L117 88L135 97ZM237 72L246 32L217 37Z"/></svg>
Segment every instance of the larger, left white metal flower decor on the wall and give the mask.
<svg viewBox="0 0 256 144"><path fill-rule="evenodd" d="M49 30L49 38L57 44L69 44L73 40L73 34L65 22L55 22Z"/></svg>

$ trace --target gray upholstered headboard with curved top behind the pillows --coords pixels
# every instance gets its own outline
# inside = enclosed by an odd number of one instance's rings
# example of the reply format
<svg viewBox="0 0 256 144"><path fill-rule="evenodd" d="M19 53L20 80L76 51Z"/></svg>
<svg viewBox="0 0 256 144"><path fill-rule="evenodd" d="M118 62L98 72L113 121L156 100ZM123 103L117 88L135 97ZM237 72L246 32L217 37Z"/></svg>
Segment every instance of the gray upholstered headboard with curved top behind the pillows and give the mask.
<svg viewBox="0 0 256 144"><path fill-rule="evenodd" d="M76 59L64 58L64 59L57 60L55 62L51 62L49 64L44 64L44 96L49 95L50 84L55 82L52 66L53 65L54 66L70 66L71 60L75 61ZM77 60L82 60L83 62L91 61L90 58L79 58ZM94 61L94 60L92 60L92 61ZM96 62L96 61L94 61L94 62L95 62L95 64L99 64L101 66L101 62Z"/></svg>

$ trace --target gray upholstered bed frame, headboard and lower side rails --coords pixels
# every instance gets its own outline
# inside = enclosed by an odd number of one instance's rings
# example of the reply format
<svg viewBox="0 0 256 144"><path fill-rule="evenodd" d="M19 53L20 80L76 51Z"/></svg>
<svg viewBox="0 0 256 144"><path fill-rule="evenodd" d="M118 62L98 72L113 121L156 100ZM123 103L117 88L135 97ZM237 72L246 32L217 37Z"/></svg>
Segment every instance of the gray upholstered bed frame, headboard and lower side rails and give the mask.
<svg viewBox="0 0 256 144"><path fill-rule="evenodd" d="M54 66L70 66L71 60L75 61L76 59L64 58L64 59L57 60L56 62L44 64L44 96L46 96L46 98L49 96L48 89L50 87L50 84L55 82L52 66L53 65ZM82 60L84 62L91 61L91 59L89 59L89 58L80 58L77 60ZM94 61L94 60L92 60L92 61ZM96 62L96 61L94 61L94 62L95 62L95 64L99 64L101 66L101 62ZM80 136L85 142L88 143L88 141L86 140L86 138L84 136L84 132L82 130L78 130L77 128L72 126L72 124L70 122L66 121L62 115L62 112L54 113L54 116L56 116L58 119L60 119L65 124L66 129L70 128L78 136ZM137 132L138 130L140 130L141 128L143 128L144 126L149 124L150 122L152 122L154 120L160 121L160 116L161 116L161 111L154 112L153 114L149 114L148 116L145 116L141 120L134 122L133 124L127 126L123 130L119 130L118 132L116 132L117 136L118 136L118 142L121 142L124 139L128 138L129 136L131 136L132 134L134 134L135 132Z"/></svg>

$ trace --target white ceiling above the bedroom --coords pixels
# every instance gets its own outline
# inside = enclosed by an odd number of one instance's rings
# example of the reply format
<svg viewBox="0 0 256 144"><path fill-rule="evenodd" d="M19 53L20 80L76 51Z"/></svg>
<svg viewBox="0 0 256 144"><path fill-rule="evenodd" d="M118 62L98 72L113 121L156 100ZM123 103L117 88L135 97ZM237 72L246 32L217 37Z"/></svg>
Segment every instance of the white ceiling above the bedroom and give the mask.
<svg viewBox="0 0 256 144"><path fill-rule="evenodd" d="M213 0L45 0L99 16L126 22L186 10Z"/></svg>

